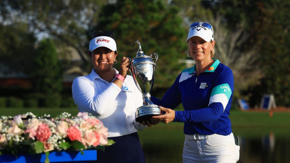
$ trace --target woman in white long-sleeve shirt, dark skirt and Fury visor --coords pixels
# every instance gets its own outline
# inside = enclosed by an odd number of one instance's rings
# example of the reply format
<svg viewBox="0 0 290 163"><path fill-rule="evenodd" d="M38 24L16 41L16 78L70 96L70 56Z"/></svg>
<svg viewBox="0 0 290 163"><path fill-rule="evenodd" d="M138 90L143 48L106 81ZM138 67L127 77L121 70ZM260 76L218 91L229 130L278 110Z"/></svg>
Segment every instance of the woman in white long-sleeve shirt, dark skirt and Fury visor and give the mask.
<svg viewBox="0 0 290 163"><path fill-rule="evenodd" d="M98 150L97 162L145 162L137 130L146 126L135 121L142 105L142 94L132 76L127 75L130 61L123 57L119 71L113 68L118 55L112 32L91 34L89 56L94 69L72 83L72 97L81 112L95 115L108 128L116 143ZM150 123L148 123L150 125Z"/></svg>

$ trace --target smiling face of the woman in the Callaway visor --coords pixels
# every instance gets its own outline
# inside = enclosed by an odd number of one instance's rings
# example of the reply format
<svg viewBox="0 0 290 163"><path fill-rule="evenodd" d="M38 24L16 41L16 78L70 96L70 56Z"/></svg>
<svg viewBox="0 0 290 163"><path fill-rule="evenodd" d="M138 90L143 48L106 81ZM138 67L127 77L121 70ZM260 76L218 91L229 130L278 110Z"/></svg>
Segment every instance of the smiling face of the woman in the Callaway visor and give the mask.
<svg viewBox="0 0 290 163"><path fill-rule="evenodd" d="M194 36L188 40L189 55L196 61L202 62L211 59L211 50L214 49L215 41L206 42L201 37Z"/></svg>

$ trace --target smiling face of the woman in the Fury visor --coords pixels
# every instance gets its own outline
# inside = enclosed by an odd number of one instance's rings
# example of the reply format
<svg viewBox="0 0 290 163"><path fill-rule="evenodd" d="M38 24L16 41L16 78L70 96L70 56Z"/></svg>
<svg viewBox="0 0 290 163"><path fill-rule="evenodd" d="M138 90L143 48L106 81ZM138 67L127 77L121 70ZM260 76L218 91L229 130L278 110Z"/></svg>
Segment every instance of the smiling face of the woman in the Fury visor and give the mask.
<svg viewBox="0 0 290 163"><path fill-rule="evenodd" d="M118 53L107 47L98 47L91 53L92 64L95 72L108 72L113 68L113 63Z"/></svg>

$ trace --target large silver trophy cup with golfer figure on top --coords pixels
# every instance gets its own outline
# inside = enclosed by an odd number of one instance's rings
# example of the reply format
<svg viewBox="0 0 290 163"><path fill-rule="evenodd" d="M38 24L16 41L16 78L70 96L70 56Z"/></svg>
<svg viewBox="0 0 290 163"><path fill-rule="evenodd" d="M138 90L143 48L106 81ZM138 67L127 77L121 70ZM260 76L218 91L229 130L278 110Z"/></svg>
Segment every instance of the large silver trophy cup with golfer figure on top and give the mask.
<svg viewBox="0 0 290 163"><path fill-rule="evenodd" d="M142 123L142 121L147 121L152 116L162 114L162 110L152 103L150 95L154 83L154 69L158 55L151 53L150 56L146 56L141 50L140 42L137 40L135 43L139 44L139 49L137 56L131 59L130 72L137 88L142 93L143 105L138 107L135 112L135 120Z"/></svg>

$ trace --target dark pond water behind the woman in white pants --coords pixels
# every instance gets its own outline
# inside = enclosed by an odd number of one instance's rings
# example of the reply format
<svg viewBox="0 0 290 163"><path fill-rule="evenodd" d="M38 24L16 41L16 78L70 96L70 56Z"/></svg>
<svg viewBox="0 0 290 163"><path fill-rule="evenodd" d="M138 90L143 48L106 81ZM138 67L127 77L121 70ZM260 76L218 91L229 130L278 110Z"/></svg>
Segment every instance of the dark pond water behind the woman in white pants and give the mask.
<svg viewBox="0 0 290 163"><path fill-rule="evenodd" d="M289 127L236 127L233 133L240 139L239 163L290 163ZM138 134L148 163L182 162L182 127L153 126Z"/></svg>

